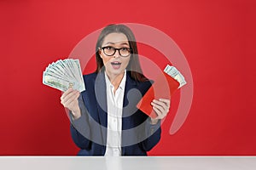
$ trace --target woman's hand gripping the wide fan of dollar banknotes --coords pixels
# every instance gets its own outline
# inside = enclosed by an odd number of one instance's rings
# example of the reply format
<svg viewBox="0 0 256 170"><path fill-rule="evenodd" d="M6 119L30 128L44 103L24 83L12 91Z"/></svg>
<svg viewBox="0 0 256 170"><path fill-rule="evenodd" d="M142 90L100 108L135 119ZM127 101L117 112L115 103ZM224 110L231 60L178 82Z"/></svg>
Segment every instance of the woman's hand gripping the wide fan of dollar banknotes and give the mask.
<svg viewBox="0 0 256 170"><path fill-rule="evenodd" d="M61 104L72 111L74 119L78 119L81 116L79 95L79 91L73 90L73 88L68 88L67 91L61 95Z"/></svg>

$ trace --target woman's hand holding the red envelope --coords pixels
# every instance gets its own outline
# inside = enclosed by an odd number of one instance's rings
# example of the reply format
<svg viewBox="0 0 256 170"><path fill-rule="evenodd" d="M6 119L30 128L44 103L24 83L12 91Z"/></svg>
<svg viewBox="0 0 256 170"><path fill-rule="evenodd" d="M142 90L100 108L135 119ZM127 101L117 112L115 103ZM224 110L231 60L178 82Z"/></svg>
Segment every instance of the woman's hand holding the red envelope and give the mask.
<svg viewBox="0 0 256 170"><path fill-rule="evenodd" d="M157 117L151 118L151 123L156 124L160 119L166 117L170 109L171 100L170 99L154 99L151 102L154 112L157 114Z"/></svg>

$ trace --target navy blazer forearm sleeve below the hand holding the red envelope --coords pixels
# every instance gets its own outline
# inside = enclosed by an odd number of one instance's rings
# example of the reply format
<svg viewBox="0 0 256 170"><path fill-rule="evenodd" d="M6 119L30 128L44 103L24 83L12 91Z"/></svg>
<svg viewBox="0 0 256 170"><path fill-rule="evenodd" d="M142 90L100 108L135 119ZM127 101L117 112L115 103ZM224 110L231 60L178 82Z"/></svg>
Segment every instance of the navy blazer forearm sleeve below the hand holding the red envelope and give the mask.
<svg viewBox="0 0 256 170"><path fill-rule="evenodd" d="M145 123L144 130L145 130L144 131L145 135L148 138L144 139L140 143L140 146L142 147L143 150L149 151L160 141L160 135L161 135L160 121L157 122L156 124L152 125L150 123L150 117L148 117L148 119L146 120L146 123Z"/></svg>

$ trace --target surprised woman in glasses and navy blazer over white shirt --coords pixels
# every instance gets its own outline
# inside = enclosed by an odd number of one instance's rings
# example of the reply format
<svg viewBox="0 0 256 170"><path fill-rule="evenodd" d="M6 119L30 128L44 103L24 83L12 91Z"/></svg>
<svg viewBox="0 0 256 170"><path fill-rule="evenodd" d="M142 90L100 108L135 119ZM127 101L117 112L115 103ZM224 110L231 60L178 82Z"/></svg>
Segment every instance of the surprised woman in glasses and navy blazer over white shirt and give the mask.
<svg viewBox="0 0 256 170"><path fill-rule="evenodd" d="M160 120L168 113L170 100L152 101L158 115L154 119L137 110L152 83L143 76L130 28L109 25L102 30L96 66L96 72L84 76L84 92L69 88L61 96L61 104L70 111L79 155L146 156L160 140Z"/></svg>

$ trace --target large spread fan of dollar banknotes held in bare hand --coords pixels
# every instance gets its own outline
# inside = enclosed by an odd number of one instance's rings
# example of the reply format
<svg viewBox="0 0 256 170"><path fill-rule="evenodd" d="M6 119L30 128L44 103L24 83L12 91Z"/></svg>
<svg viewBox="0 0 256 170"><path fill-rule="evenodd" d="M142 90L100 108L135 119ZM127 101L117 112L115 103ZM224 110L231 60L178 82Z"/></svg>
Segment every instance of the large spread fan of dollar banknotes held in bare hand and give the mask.
<svg viewBox="0 0 256 170"><path fill-rule="evenodd" d="M79 59L59 59L48 65L43 74L43 83L65 92L67 88L85 90Z"/></svg>

